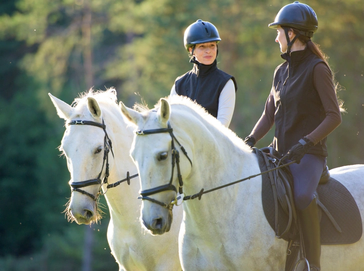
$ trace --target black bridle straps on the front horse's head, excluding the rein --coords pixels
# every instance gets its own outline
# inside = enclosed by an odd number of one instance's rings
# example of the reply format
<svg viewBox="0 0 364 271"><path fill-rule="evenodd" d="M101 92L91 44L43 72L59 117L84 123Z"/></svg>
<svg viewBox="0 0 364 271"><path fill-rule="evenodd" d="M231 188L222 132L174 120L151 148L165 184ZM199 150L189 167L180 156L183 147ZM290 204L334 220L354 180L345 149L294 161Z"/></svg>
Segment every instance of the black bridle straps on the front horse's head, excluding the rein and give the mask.
<svg viewBox="0 0 364 271"><path fill-rule="evenodd" d="M174 140L178 143L178 145L180 146L183 154L187 157L188 161L190 162L191 166L192 166L192 162L191 159L188 157L187 152L185 151L184 147L178 142L177 138L174 136L173 134L173 129L170 127L169 122L167 123L167 128L159 128L159 129L149 129L149 130L137 130L135 131L135 133L137 135L145 135L145 134L152 134L152 133L162 133L162 132L169 132L170 137L172 138L172 142L171 142L171 153L172 153L172 174L170 176L170 180L168 184L164 184L164 185L160 185L154 188L150 188L150 189L146 189L146 190L141 190L139 192L139 194L141 196L139 196L138 198L141 199L146 199L149 200L151 202L157 203L165 208L168 209L172 209L173 204L179 205L182 201L183 201L183 180L182 180L182 176L180 174L180 168L179 168L179 151L175 148L174 146ZM178 176L178 191L177 188L172 184L172 180L173 180L173 171L174 171L174 165L177 165L177 176ZM168 190L172 190L175 191L177 193L177 195L175 196L175 199L170 202L169 204L165 203L165 202L161 202L158 201L154 198L149 197L149 195L153 195L162 191L168 191Z"/></svg>

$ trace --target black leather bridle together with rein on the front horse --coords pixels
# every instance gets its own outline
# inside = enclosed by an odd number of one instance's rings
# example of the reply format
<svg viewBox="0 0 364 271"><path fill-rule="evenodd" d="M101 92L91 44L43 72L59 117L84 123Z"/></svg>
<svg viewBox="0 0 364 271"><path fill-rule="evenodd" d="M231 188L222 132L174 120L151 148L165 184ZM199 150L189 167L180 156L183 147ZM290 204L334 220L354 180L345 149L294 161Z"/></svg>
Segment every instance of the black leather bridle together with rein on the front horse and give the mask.
<svg viewBox="0 0 364 271"><path fill-rule="evenodd" d="M139 192L139 194L141 196L138 197L138 198L141 198L141 199L149 200L151 202L154 202L156 204L159 204L159 205L161 205L161 206L163 206L165 208L168 208L168 209L172 209L173 208L173 205L180 205L184 200L194 199L196 197L198 197L198 199L201 199L202 194L206 194L206 193L209 193L209 192L212 192L212 191L215 191L215 190L218 190L218 189L221 189L221 188L230 186L232 184L235 184L235 183L238 183L238 182L247 180L247 179L251 179L251 178L254 178L256 176L265 174L265 173L268 173L270 171L279 169L281 167L288 166L289 164L295 163L295 160L294 160L294 161L291 161L291 162L288 162L288 163L279 165L277 167L271 168L269 170L266 170L266 171L263 171L263 172L260 172L260 173L254 174L254 175L250 175L250 176L248 176L246 178L239 179L239 180L236 180L236 181L233 181L233 182L224 184L224 185L220 185L220 186L214 187L214 188L209 189L209 190L204 190L204 188L202 188L198 193L193 194L193 195L187 195L186 196L183 193L183 180L182 180L182 176L180 174L180 169L179 169L179 152L178 152L178 150L174 146L174 140L180 146L183 154L188 158L191 166L192 166L192 161L188 157L187 152L185 151L184 147L178 142L177 138L174 136L173 129L171 128L169 122L167 123L167 125L168 125L167 128L158 128L158 129L149 129L149 130L136 130L135 133L136 133L136 135L146 135L146 134L152 134L152 133L168 132L170 134L170 137L172 138L172 142L171 142L172 174L170 176L169 183L168 184L164 184L164 185L160 185L160 186L157 186L157 187L154 187L154 188L146 189L146 190L141 190ZM283 157L283 158L285 158L285 157ZM281 160L284 160L283 158ZM178 191L175 188L175 186L172 184L174 164L177 165ZM175 196L175 198L174 198L174 200L172 200L170 203L161 202L161 201L156 200L154 198L148 197L149 195L156 194L156 193L159 193L159 192L162 192L162 191L167 191L167 190L173 190L173 191L175 191L177 193L176 196Z"/></svg>

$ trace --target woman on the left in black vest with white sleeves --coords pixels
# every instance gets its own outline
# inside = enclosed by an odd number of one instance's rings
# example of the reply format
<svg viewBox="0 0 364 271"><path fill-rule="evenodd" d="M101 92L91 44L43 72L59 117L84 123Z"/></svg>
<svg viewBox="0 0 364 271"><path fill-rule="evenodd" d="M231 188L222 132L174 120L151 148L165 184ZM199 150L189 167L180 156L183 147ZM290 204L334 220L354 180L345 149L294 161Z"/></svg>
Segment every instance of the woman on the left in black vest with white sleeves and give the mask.
<svg viewBox="0 0 364 271"><path fill-rule="evenodd" d="M177 77L170 95L183 95L196 101L223 125L229 126L235 106L235 78L216 66L217 28L197 20L184 31L184 47L190 54L192 70Z"/></svg>

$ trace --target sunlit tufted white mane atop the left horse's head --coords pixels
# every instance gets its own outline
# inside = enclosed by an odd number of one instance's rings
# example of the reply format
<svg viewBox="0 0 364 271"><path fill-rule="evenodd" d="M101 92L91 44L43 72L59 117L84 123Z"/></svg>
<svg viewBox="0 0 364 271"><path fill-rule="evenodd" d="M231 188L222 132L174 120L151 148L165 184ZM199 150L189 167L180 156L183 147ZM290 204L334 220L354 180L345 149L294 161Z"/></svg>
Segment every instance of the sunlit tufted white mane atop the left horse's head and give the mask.
<svg viewBox="0 0 364 271"><path fill-rule="evenodd" d="M110 105L117 107L116 90L113 87L103 90L95 90L90 88L88 92L79 93L78 97L72 102L72 106L75 108L74 114L84 116L89 114L87 108L87 98L93 97L97 100L99 105L105 105L105 108L109 108Z"/></svg>

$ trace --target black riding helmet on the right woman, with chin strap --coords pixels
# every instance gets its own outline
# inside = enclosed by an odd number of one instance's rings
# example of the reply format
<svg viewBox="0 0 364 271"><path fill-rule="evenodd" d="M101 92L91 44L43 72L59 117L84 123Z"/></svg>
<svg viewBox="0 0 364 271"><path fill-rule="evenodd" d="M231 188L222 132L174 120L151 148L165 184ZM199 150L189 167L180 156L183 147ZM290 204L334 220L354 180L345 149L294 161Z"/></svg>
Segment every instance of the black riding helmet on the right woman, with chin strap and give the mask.
<svg viewBox="0 0 364 271"><path fill-rule="evenodd" d="M290 47L292 46L295 38L299 35L307 37L313 36L313 33L317 30L318 21L316 13L309 5L294 1L291 4L283 6L275 16L274 22L268 24L270 28L277 28L278 25L284 28L288 45L287 53L289 53ZM289 41L288 27L293 27L299 30L299 33L292 41Z"/></svg>

